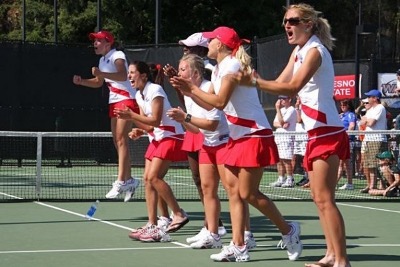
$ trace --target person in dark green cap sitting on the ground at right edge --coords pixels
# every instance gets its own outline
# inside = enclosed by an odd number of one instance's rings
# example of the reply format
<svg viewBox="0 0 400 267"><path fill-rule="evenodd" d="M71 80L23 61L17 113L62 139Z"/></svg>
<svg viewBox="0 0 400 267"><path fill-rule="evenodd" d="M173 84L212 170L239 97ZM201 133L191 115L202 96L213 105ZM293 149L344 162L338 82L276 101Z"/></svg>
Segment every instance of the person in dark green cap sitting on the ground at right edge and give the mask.
<svg viewBox="0 0 400 267"><path fill-rule="evenodd" d="M396 159L390 151L384 151L376 155L379 159L379 173L382 177L380 189L371 189L372 196L398 197L400 196L400 170Z"/></svg>

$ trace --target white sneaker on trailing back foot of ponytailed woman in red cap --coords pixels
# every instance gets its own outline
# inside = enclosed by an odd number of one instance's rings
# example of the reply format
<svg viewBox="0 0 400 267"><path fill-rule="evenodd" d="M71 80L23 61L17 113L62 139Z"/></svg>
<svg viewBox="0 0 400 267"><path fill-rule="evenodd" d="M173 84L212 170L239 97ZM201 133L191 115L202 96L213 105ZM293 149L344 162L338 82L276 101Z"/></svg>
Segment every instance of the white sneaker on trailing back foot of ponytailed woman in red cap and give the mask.
<svg viewBox="0 0 400 267"><path fill-rule="evenodd" d="M282 235L282 240L279 241L277 247L286 248L289 260L297 260L303 251L303 244L300 240L300 224L298 222L289 223L292 230L290 234Z"/></svg>

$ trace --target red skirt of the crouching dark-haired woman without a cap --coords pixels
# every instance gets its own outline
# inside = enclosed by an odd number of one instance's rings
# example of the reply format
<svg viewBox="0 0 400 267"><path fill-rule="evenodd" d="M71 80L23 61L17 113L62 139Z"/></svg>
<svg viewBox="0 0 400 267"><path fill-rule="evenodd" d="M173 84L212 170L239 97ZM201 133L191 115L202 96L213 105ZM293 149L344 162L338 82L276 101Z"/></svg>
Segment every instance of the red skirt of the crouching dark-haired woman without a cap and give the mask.
<svg viewBox="0 0 400 267"><path fill-rule="evenodd" d="M170 161L186 161L187 152L181 149L182 140L183 134L166 137L160 141L153 140L147 147L144 157L148 160L160 158Z"/></svg>

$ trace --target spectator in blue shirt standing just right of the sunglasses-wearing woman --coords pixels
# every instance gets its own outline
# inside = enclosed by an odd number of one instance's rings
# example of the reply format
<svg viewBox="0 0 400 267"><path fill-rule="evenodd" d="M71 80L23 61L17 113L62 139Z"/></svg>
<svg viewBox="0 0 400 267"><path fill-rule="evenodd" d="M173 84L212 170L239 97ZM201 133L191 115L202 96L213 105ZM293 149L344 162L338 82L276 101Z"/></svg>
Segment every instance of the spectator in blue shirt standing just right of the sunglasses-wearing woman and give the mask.
<svg viewBox="0 0 400 267"><path fill-rule="evenodd" d="M340 109L341 109L341 113L339 114L339 117L340 117L341 121L343 122L344 128L348 131L355 130L356 123L357 123L357 117L356 117L356 114L354 113L353 103L349 100L342 100L342 101L340 101ZM349 141L350 141L350 153L352 153L353 149L354 149L355 136L350 135ZM343 170L346 173L347 182L344 185L340 186L339 189L340 190L353 190L354 189L353 168L351 166L350 158L345 159L345 160L340 160L339 171L338 171L338 180L337 180L338 183L342 176Z"/></svg>

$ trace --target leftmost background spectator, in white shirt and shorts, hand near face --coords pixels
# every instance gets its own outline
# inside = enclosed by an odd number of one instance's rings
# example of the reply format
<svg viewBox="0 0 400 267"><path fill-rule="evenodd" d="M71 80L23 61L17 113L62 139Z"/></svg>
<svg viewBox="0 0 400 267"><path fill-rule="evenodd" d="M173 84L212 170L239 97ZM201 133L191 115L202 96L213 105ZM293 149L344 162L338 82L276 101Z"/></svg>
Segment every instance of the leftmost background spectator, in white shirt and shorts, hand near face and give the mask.
<svg viewBox="0 0 400 267"><path fill-rule="evenodd" d="M270 184L273 187L294 186L292 166L294 136L289 133L296 130L297 114L291 101L291 97L280 95L275 103L276 115L273 126L276 128L275 143L278 147L279 162L278 180Z"/></svg>

